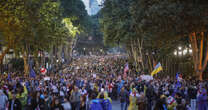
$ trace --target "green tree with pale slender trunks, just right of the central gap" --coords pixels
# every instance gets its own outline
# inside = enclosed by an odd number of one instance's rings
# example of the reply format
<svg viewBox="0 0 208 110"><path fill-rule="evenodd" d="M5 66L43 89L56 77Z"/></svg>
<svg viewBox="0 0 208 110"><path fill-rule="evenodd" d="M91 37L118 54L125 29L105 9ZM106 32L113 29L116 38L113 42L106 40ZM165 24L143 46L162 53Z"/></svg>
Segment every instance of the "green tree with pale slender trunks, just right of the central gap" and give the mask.
<svg viewBox="0 0 208 110"><path fill-rule="evenodd" d="M106 0L101 10L100 21L105 43L125 45L129 55L136 62L136 68L144 70L143 46L147 35L140 28L144 9L135 3L133 0ZM132 11L134 8L137 10Z"/></svg>

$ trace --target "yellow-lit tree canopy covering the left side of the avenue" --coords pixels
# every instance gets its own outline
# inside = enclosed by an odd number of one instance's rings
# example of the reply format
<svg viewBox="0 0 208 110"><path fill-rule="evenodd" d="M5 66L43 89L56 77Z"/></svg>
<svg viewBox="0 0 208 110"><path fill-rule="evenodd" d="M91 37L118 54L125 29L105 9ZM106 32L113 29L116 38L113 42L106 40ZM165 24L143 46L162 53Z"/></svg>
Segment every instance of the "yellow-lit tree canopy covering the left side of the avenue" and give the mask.
<svg viewBox="0 0 208 110"><path fill-rule="evenodd" d="M68 6L63 6L63 2ZM1 63L10 49L21 53L26 64L29 55L37 56L39 51L64 44L84 30L87 25L82 22L87 17L83 3L78 0L1 1L0 40L1 46L6 47L0 56Z"/></svg>

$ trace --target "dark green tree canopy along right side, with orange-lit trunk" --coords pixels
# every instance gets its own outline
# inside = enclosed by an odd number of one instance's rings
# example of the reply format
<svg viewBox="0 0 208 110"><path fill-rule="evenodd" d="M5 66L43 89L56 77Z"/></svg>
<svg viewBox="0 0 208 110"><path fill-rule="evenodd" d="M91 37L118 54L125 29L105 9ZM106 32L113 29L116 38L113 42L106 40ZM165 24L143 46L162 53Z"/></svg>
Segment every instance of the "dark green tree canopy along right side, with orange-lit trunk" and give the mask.
<svg viewBox="0 0 208 110"><path fill-rule="evenodd" d="M126 45L135 60L148 51L168 55L180 43L191 44L202 79L208 61L207 7L207 1L196 0L106 0L100 20L104 40Z"/></svg>

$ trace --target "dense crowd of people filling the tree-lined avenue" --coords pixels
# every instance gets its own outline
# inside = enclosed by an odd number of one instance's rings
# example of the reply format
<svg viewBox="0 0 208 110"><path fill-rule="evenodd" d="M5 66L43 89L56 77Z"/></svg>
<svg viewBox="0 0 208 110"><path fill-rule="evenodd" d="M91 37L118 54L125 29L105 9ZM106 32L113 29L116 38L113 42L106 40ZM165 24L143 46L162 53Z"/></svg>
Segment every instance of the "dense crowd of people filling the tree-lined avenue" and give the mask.
<svg viewBox="0 0 208 110"><path fill-rule="evenodd" d="M121 110L208 110L207 81L123 77L125 63L84 58L63 73L1 74L0 110L112 110L112 100Z"/></svg>

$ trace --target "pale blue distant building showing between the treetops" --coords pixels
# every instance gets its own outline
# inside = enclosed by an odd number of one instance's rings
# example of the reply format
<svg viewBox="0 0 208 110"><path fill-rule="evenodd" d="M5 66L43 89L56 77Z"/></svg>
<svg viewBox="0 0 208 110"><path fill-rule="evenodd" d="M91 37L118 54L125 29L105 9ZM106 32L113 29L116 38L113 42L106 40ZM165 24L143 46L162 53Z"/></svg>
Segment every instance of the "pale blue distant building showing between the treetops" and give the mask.
<svg viewBox="0 0 208 110"><path fill-rule="evenodd" d="M95 15L101 9L104 0L82 0L89 15Z"/></svg>

